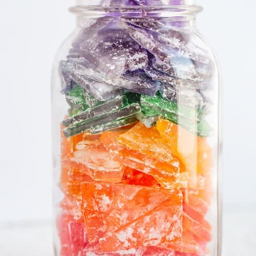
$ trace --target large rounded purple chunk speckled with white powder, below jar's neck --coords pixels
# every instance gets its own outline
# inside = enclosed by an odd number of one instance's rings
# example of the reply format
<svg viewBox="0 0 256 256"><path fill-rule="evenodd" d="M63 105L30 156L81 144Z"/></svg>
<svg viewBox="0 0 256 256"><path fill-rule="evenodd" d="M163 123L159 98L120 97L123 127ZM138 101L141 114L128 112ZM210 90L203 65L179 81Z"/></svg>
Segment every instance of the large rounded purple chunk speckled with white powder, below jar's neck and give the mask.
<svg viewBox="0 0 256 256"><path fill-rule="evenodd" d="M80 45L80 55L95 63L98 71L120 76L147 66L147 52L123 30L104 30Z"/></svg>

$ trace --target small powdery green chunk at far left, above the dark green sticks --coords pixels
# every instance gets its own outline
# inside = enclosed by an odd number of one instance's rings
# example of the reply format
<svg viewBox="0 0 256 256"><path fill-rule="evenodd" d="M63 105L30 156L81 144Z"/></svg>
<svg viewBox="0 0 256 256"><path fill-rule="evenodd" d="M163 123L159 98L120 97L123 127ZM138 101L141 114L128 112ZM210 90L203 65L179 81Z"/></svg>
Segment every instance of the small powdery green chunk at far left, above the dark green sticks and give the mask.
<svg viewBox="0 0 256 256"><path fill-rule="evenodd" d="M87 104L86 96L84 93L84 89L80 86L77 86L66 93L66 100L71 108L78 110L89 109L89 105Z"/></svg>

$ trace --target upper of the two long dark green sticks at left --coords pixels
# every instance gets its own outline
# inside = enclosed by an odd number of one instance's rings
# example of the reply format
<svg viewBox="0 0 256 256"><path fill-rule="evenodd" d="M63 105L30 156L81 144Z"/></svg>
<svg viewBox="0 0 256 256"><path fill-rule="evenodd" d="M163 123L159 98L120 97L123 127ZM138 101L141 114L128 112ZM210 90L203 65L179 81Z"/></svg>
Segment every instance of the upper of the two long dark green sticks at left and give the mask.
<svg viewBox="0 0 256 256"><path fill-rule="evenodd" d="M71 118L64 120L62 123L64 126L70 126L81 121L91 120L101 115L113 112L127 104L128 100L125 95L118 96L113 100L106 101L103 104L96 106L95 108L88 109L84 112L74 115Z"/></svg>

